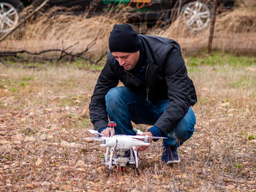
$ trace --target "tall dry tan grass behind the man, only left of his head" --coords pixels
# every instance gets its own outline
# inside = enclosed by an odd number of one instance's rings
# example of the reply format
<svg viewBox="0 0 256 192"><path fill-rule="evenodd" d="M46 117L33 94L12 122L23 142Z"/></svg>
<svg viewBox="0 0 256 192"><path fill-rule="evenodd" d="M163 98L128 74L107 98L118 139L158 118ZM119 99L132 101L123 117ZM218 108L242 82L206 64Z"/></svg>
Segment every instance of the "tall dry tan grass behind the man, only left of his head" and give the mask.
<svg viewBox="0 0 256 192"><path fill-rule="evenodd" d="M39 52L72 46L69 48L69 52L77 53L86 50L87 45L97 37L100 31L97 45L90 51L105 52L108 50L108 44L106 44L108 34L113 25L118 22L118 18L110 17L108 14L94 18L86 18L86 14L50 15L51 12L48 12L36 20L26 23L21 31L1 43L1 50Z"/></svg>

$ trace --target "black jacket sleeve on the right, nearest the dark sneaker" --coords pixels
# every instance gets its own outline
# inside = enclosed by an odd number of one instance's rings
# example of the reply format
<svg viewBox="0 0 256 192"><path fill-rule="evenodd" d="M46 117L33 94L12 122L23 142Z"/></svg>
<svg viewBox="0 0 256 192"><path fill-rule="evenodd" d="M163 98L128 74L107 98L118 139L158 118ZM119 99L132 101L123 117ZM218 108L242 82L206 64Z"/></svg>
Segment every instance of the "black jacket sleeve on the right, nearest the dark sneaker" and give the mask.
<svg viewBox="0 0 256 192"><path fill-rule="evenodd" d="M155 123L165 134L173 130L178 120L189 110L189 78L181 52L175 50L165 61L165 80L167 82L167 109Z"/></svg>

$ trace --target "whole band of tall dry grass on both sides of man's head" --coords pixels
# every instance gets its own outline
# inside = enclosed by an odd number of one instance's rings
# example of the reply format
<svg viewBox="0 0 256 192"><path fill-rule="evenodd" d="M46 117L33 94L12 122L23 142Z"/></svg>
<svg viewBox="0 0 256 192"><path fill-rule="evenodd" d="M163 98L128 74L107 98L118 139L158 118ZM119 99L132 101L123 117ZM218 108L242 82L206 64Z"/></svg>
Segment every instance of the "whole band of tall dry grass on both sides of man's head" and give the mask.
<svg viewBox="0 0 256 192"><path fill-rule="evenodd" d="M256 16L255 5L249 0L243 1L233 12L223 12L217 16L214 32L214 49L229 51L236 54L253 55L256 50ZM22 39L12 38L0 43L0 51L29 50L38 52L52 48L66 48L73 53L86 49L86 46L97 36L99 27L104 22L99 34L97 44L91 47L90 53L99 55L108 51L108 36L116 23L122 23L120 14L105 14L94 18L86 15L55 15L50 17L47 13L33 22L27 23L22 29ZM145 25L138 28L144 31ZM182 50L187 54L196 54L208 45L209 26L203 31L189 30L181 18L178 18L169 28L151 28L147 34L160 35L175 39L181 44Z"/></svg>

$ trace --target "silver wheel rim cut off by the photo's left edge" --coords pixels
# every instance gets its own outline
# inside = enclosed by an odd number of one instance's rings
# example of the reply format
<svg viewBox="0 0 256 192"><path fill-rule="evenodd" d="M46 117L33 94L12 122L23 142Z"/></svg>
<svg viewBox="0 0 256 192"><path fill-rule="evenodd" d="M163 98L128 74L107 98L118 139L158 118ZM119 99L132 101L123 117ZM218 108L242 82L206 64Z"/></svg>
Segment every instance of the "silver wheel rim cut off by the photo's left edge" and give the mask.
<svg viewBox="0 0 256 192"><path fill-rule="evenodd" d="M12 4L0 3L0 32L7 33L18 23L18 11Z"/></svg>

